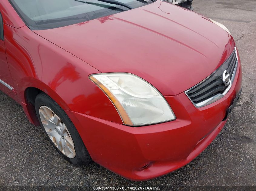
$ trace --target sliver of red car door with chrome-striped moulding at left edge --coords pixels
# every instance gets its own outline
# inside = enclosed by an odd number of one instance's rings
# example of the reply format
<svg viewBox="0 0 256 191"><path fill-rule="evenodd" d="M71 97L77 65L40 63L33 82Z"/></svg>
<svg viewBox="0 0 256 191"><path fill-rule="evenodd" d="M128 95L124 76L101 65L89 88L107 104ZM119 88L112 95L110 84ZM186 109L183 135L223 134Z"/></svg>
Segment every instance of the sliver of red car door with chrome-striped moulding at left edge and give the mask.
<svg viewBox="0 0 256 191"><path fill-rule="evenodd" d="M0 12L0 90L6 94L12 92L12 77L9 71L6 55L5 55L5 41L3 18Z"/></svg>

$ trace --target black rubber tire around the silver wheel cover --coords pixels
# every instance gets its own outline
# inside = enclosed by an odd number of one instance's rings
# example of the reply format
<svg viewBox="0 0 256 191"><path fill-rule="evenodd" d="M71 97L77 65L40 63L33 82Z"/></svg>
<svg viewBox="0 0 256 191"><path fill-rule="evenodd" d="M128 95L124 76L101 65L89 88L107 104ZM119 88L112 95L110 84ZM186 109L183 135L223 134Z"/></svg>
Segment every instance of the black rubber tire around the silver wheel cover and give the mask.
<svg viewBox="0 0 256 191"><path fill-rule="evenodd" d="M71 139L73 141L74 144L74 149L75 149L75 157L70 158L68 156L66 156L65 154L62 153L62 151L60 151L58 149L58 147L55 145L55 143L52 141L52 139L49 137L49 135L47 134L45 127L42 124L42 120L40 118L40 108L42 106L46 106L49 109L51 109L55 114L57 114L58 119L61 120L61 122L63 122L65 124L65 128L68 129L68 135L71 136ZM40 93L38 94L38 96L35 99L35 110L36 110L36 114L38 116L38 120L40 122L40 125L42 126L48 140L51 142L51 144L54 146L54 148L57 150L57 152L68 162L75 164L75 165L82 165L82 164L89 164L92 160L90 157L90 154L88 153L77 129L75 128L74 124L71 122L71 120L69 119L68 115L65 113L65 111L51 98L49 97L47 94L45 93ZM42 116L42 114L41 114ZM64 137L64 136L62 136ZM53 137L52 137L53 138ZM54 139L56 140L56 139ZM63 149L64 151L64 149ZM73 155L73 156L74 156Z"/></svg>

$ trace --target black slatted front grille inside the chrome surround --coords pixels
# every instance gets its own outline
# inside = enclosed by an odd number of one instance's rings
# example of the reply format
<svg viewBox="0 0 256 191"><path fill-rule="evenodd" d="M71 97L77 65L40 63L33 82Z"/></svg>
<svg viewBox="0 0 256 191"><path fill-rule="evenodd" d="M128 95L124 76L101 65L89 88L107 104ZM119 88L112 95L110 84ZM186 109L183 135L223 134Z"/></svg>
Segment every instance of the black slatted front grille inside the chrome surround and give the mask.
<svg viewBox="0 0 256 191"><path fill-rule="evenodd" d="M201 103L223 92L229 87L223 83L223 73L226 70L232 77L237 63L236 50L232 52L229 58L205 80L186 91L186 94L194 104Z"/></svg>

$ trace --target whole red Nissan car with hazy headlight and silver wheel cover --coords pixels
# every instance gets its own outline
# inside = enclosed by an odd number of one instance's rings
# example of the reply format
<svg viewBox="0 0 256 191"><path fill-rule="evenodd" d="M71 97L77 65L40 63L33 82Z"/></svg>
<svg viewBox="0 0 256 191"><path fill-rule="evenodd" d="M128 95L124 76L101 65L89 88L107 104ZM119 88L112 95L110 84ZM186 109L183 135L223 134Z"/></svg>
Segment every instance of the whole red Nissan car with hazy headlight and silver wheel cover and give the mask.
<svg viewBox="0 0 256 191"><path fill-rule="evenodd" d="M0 12L0 89L73 164L131 180L169 173L211 143L240 96L227 28L167 2L1 0Z"/></svg>

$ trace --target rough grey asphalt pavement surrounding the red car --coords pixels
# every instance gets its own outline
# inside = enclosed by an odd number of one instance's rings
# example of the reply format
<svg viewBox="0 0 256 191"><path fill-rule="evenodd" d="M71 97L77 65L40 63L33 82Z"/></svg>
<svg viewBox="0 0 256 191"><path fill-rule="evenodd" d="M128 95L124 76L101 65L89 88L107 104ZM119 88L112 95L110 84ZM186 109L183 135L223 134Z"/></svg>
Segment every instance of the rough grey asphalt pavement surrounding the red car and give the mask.
<svg viewBox="0 0 256 191"><path fill-rule="evenodd" d="M0 91L0 186L256 186L256 1L194 0L193 7L230 30L243 69L241 99L207 149L185 167L144 182L126 180L94 162L77 167L62 159L43 130Z"/></svg>

